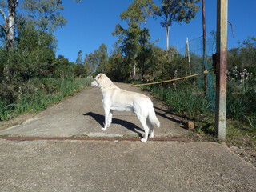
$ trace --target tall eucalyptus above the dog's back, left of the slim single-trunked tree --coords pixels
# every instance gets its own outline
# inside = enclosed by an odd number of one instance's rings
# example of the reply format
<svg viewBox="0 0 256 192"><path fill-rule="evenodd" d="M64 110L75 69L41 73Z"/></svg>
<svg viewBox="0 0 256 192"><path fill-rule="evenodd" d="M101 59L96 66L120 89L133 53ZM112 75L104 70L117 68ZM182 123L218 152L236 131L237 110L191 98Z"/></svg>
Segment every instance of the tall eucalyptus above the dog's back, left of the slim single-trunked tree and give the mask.
<svg viewBox="0 0 256 192"><path fill-rule="evenodd" d="M120 15L122 21L126 21L128 29L125 30L120 25L116 26L115 34L118 34L119 39L121 38L123 40L122 46L126 48L126 51L129 51L130 58L134 61L134 74L135 58L138 54L142 54L142 78L145 74L145 50L150 39L149 30L146 28L146 25L148 19L154 16L157 11L158 6L152 0L134 0L128 6L128 9Z"/></svg>

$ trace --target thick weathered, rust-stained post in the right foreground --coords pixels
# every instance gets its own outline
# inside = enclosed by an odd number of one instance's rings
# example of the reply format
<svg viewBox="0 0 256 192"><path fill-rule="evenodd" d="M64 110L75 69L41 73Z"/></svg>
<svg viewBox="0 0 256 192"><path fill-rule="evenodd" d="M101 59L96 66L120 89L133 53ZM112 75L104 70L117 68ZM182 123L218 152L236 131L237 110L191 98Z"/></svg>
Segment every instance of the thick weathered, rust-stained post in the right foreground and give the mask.
<svg viewBox="0 0 256 192"><path fill-rule="evenodd" d="M227 2L228 0L217 0L215 134L221 140L226 139Z"/></svg>

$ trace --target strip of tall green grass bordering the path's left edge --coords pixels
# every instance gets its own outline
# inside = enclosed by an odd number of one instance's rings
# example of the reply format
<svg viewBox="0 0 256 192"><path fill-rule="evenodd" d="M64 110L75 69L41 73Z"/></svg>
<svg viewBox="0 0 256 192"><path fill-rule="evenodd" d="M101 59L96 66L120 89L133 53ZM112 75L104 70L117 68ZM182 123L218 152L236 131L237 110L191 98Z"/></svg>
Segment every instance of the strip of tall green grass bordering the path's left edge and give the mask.
<svg viewBox="0 0 256 192"><path fill-rule="evenodd" d="M85 78L32 79L22 84L23 87L21 86L18 91L18 98L15 102L8 103L7 100L0 100L1 121L15 114L46 109L89 85L90 79Z"/></svg>

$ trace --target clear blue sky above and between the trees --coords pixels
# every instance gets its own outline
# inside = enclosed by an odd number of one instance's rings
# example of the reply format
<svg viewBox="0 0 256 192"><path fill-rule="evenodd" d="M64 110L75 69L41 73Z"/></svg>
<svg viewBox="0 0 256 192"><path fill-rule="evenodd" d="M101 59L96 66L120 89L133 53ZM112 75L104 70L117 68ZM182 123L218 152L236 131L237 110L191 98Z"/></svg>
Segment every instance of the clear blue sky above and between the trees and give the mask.
<svg viewBox="0 0 256 192"><path fill-rule="evenodd" d="M117 37L112 32L117 24L125 26L120 14L127 10L133 0L72 0L62 1L65 10L62 14L67 19L66 26L59 28L54 35L58 40L56 57L64 55L70 62L75 62L78 51L82 50L83 57L104 43L108 52L113 50ZM159 0L154 0L159 4ZM210 38L210 31L216 31L217 1L206 0L206 38ZM198 3L202 7L202 2ZM228 1L228 21L233 24L234 38L230 25L228 25L228 50L239 46L248 36L256 37L256 0L230 0ZM160 19L150 18L147 27L150 29L151 42L166 49L166 31L160 26ZM173 23L170 26L170 46L185 47L186 38L193 40L202 36L202 9L189 24Z"/></svg>

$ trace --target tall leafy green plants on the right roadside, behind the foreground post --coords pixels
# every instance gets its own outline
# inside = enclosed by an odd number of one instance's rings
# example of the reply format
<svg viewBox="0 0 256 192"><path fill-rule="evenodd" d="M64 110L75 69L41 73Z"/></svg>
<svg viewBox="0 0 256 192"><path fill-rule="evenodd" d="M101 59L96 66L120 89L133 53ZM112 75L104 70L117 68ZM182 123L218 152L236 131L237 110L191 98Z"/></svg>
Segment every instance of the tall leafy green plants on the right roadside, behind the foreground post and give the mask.
<svg viewBox="0 0 256 192"><path fill-rule="evenodd" d="M226 115L246 124L255 133L256 125L256 79L246 69L237 68L227 74ZM198 115L207 117L213 112L210 98L193 83L175 82L169 85L144 86L158 99L166 102L175 113L186 114L190 118Z"/></svg>

